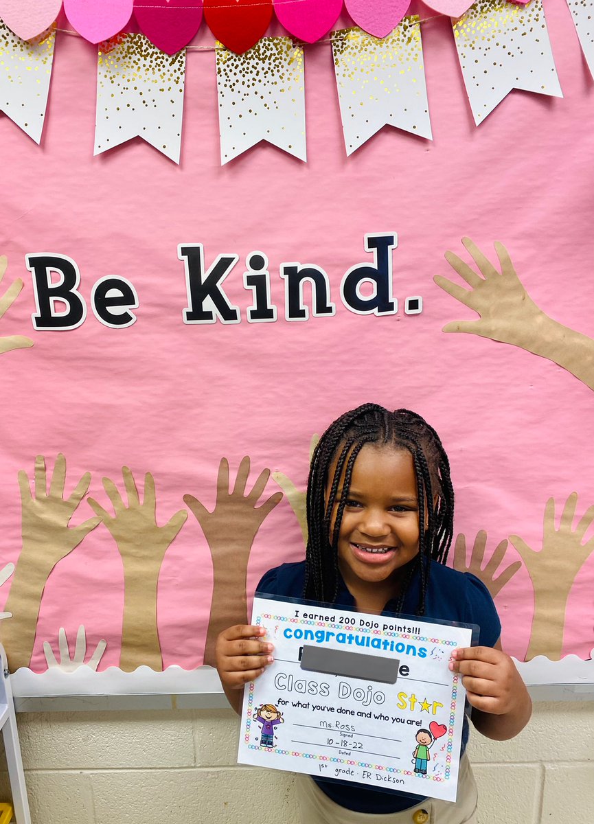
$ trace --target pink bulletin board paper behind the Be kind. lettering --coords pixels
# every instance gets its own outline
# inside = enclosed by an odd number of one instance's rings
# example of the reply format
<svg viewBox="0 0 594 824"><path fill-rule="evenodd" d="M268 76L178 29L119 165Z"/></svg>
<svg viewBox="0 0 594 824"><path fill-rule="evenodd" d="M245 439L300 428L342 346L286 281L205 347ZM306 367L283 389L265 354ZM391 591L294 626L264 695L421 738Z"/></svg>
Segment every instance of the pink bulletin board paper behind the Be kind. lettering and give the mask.
<svg viewBox="0 0 594 824"><path fill-rule="evenodd" d="M565 3L549 0L545 8L564 99L513 91L476 129L451 23L434 20L423 26L433 143L382 129L348 158L330 44L306 48L306 164L261 143L220 166L214 55L202 51L188 56L180 166L140 140L93 157L96 49L58 32L41 146L0 116L0 251L8 259L0 292L14 279L24 283L0 334L34 342L0 354L0 568L17 564L2 592L11 591L19 574L23 547L18 473L25 471L33 487L35 456L45 456L49 478L63 453L66 495L91 473L70 527L98 517L88 498L113 515L103 478L124 499L122 467L129 467L142 502L150 473L157 527L179 527L155 582L162 666L199 667L213 592L208 541L214 540L208 517L200 526L193 499L208 513L215 503L223 506L222 494L217 502L222 457L233 485L241 459L250 456L246 498L265 469L286 475L298 493L312 434L373 400L419 411L442 436L457 495L455 534L465 536L468 559L484 530L483 566L502 541L509 543L501 569L522 562L495 597L503 647L520 660L536 612L526 547L535 554L543 549L547 501L554 499L547 527L554 537L562 521L568 526L570 495L578 493L573 529L564 536L567 553L585 558L566 586L560 649L573 658L547 662L556 675L544 678L559 680L575 656L586 665L594 646L594 554L587 544L592 526L582 535L578 524L594 503L594 391L568 368L517 345L444 333L443 326L477 316L433 281L441 275L470 288L444 251L472 263L461 244L469 236L497 260L493 241L503 241L531 300L559 324L594 337L594 91ZM194 44L212 45L212 35L203 28ZM560 153L559 146L572 150ZM391 251L398 311L359 315L342 301L340 283L351 267L372 263L364 238L382 232L398 235ZM184 323L188 293L178 246L192 244L203 244L207 267L218 255L237 255L224 289L240 310L239 322ZM255 251L267 259L276 321L246 320L252 292L244 272ZM33 328L26 255L44 252L68 256L80 272L87 316L72 330ZM314 316L306 287L309 318L285 319L279 269L296 261L324 269L334 314ZM138 294L136 322L119 329L101 324L90 305L96 283L114 275ZM414 296L423 298L423 311L406 314L406 298ZM269 478L258 503L280 489ZM453 555L452 548L451 563ZM283 498L255 533L248 602L267 569L302 556L302 531ZM80 625L87 659L106 641L97 679L119 666L124 578L130 586L133 580L126 578L128 563L104 522L55 562L40 602L34 672L47 668L44 641L58 653L61 627L75 654ZM145 555L143 563L154 569L157 562ZM232 609L242 597L235 589L219 602ZM10 620L2 620L2 635Z"/></svg>

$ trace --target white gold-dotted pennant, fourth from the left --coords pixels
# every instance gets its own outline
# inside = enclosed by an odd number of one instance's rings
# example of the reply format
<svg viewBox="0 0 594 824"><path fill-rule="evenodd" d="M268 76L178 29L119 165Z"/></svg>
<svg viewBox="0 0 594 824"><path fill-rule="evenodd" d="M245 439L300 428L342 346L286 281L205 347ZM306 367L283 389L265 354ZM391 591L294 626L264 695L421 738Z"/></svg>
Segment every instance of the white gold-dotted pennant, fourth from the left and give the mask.
<svg viewBox="0 0 594 824"><path fill-rule="evenodd" d="M431 139L419 17L382 40L356 26L331 36L347 154L386 124Z"/></svg>

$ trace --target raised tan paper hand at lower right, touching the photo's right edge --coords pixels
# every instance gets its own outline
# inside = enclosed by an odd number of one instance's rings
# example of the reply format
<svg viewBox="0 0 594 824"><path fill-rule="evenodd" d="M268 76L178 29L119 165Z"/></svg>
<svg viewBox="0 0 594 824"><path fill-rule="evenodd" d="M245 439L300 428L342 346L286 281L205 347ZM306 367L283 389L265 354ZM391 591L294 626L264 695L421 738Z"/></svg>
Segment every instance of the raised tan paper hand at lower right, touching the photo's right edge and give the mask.
<svg viewBox="0 0 594 824"><path fill-rule="evenodd" d="M577 504L578 493L572 492L561 513L559 529L556 529L554 499L546 502L540 551L532 550L520 536L509 536L526 564L534 587L534 617L526 661L536 655L545 655L553 661L561 658L569 592L576 575L594 550L594 538L583 543L587 528L594 521L594 506L587 508L573 529Z"/></svg>

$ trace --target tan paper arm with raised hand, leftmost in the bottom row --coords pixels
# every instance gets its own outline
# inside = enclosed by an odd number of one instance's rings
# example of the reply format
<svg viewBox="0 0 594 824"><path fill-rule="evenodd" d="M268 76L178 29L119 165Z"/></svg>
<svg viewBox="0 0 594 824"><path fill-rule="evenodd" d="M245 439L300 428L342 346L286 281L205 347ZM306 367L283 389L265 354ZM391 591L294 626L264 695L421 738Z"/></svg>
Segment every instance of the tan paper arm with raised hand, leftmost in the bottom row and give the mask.
<svg viewBox="0 0 594 824"><path fill-rule="evenodd" d="M41 597L49 574L58 561L66 557L95 529L100 518L91 517L77 527L68 527L91 483L91 473L85 472L69 498L64 498L66 458L56 458L54 475L47 489L44 456L35 458L35 487L31 494L26 472L18 474L21 489L22 550L16 563L11 591L4 609L12 612L12 620L2 625L2 643L14 671L28 667Z"/></svg>

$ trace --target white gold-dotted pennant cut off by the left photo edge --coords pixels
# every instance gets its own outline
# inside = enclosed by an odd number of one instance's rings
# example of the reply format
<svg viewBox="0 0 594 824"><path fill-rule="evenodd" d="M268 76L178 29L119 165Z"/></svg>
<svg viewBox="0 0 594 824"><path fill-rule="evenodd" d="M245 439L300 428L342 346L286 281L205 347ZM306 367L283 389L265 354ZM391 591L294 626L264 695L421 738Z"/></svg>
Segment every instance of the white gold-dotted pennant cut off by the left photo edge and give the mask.
<svg viewBox="0 0 594 824"><path fill-rule="evenodd" d="M54 63L55 26L21 40L0 21L0 110L40 143Z"/></svg>

